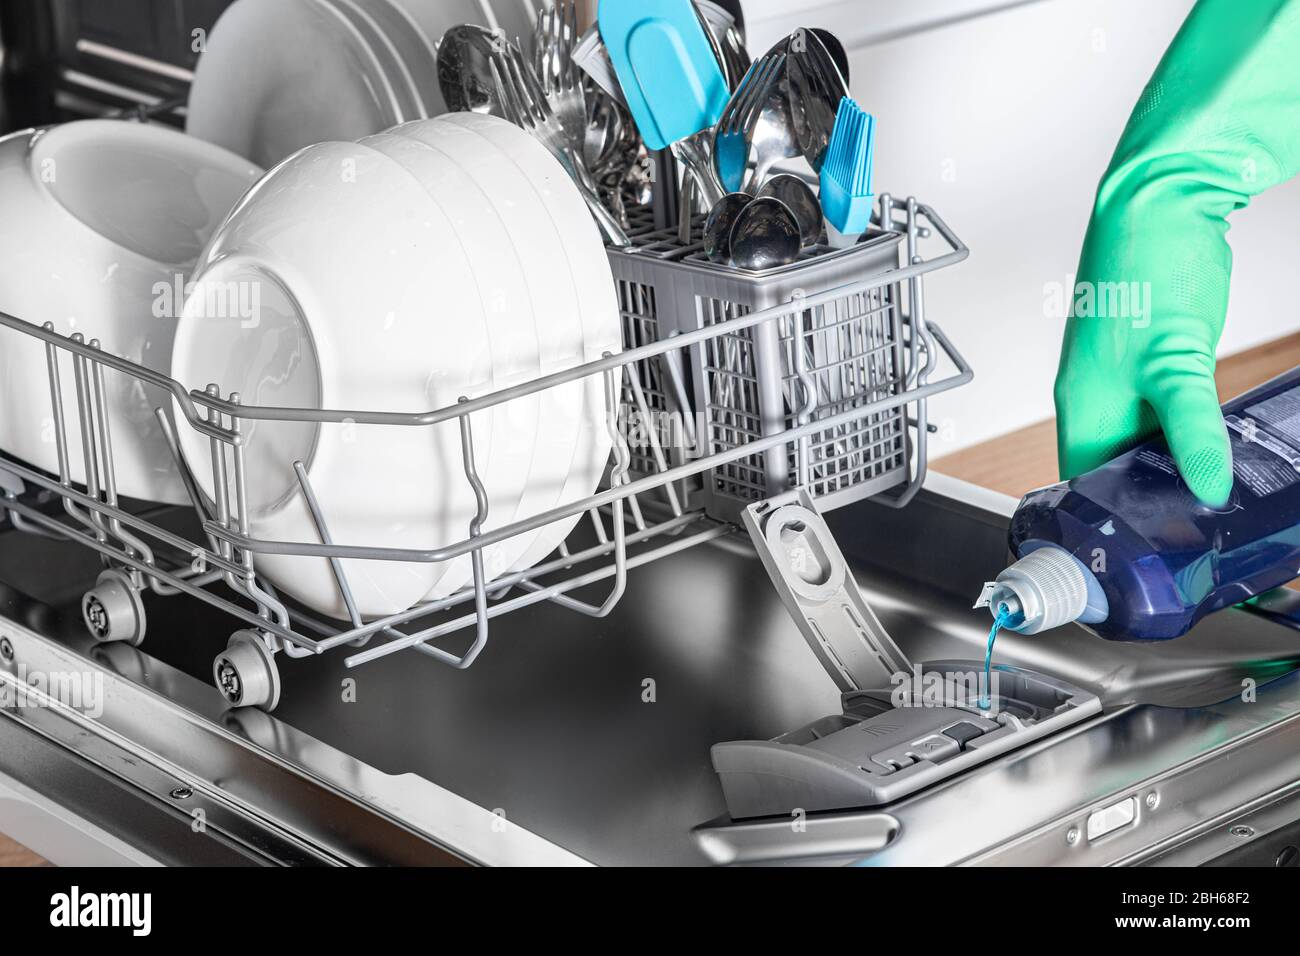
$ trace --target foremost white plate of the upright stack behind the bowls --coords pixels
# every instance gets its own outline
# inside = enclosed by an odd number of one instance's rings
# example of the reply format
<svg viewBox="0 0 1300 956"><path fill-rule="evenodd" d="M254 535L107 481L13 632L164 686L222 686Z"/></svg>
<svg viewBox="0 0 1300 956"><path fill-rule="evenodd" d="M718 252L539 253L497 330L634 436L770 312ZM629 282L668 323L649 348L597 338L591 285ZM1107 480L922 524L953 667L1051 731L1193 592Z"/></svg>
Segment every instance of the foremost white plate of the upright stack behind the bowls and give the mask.
<svg viewBox="0 0 1300 956"><path fill-rule="evenodd" d="M195 68L186 130L272 166L393 125L367 55L316 0L237 0Z"/></svg>

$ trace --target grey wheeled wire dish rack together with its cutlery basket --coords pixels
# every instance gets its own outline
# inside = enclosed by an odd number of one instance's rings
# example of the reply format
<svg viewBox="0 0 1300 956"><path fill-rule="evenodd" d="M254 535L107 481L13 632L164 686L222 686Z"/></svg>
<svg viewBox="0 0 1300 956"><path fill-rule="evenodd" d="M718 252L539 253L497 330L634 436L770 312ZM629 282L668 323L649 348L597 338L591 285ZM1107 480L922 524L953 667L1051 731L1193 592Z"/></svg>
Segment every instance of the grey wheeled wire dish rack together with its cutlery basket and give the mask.
<svg viewBox="0 0 1300 956"><path fill-rule="evenodd" d="M306 657L350 646L346 663L356 666L413 648L463 669L486 645L493 618L541 601L604 617L624 593L630 568L732 533L733 522L751 501L796 485L809 488L827 506L887 488L894 490L889 503L911 499L926 475L926 402L971 378L965 359L924 316L923 277L968 254L930 207L883 194L874 230L863 243L842 251L818 247L770 273L702 263L698 242L682 245L650 226L633 233L630 250L610 251L625 351L425 412L246 406L214 389L187 392L176 380L117 358L81 334L65 337L52 326L0 312L0 325L44 343L58 457L57 476L0 458L0 518L8 514L21 531L100 554L105 570L82 602L86 624L99 640L143 640L144 589L190 594L242 622L243 628L214 661L214 682L233 705L269 710L280 698L278 652ZM945 248L924 258L919 247L931 237ZM941 354L952 363L952 373L931 381ZM75 394L72 421L64 414L69 384L60 372L66 360ZM192 531L174 529L176 522L165 527L120 499L105 414L105 369L159 388L176 401L181 415L174 425L164 410L156 415L198 518L190 523ZM471 415L588 377L603 384L612 441L602 488L486 531L491 502L478 475ZM685 441L666 446L660 429L650 427L637 429L636 441L629 442L629 415L646 423L664 414L681 423ZM251 421L356 428L433 428L455 421L477 514L465 537L443 548L335 541L307 470L295 462L317 540L257 540L250 535L240 438ZM209 440L214 499L199 490L179 453L176 427L192 428ZM75 451L75 446L70 451L70 434L79 436L84 488L70 477L69 455ZM49 514L29 490L57 496L62 514ZM582 512L589 514L590 528L580 524L543 563L494 579L485 574L485 548ZM287 604L259 575L257 555L264 554L326 558L350 619L324 620ZM376 620L358 613L342 563L446 562L467 554L472 587ZM610 581L602 600L573 596L601 581ZM462 636L459 649L442 645L464 631L472 636ZM370 645L370 639L380 640Z"/></svg>

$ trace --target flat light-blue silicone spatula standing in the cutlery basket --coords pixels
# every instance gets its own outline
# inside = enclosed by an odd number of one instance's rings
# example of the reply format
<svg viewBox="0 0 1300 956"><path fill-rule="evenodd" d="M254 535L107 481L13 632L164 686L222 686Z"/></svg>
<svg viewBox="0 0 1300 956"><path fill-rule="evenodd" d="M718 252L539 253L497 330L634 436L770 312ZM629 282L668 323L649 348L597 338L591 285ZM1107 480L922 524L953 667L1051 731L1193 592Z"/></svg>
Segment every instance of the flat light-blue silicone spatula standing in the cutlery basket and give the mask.
<svg viewBox="0 0 1300 956"><path fill-rule="evenodd" d="M724 191L712 169L711 137L697 134L718 122L731 92L694 4L601 0L597 20L646 147L673 147L703 189L705 200L720 199Z"/></svg>

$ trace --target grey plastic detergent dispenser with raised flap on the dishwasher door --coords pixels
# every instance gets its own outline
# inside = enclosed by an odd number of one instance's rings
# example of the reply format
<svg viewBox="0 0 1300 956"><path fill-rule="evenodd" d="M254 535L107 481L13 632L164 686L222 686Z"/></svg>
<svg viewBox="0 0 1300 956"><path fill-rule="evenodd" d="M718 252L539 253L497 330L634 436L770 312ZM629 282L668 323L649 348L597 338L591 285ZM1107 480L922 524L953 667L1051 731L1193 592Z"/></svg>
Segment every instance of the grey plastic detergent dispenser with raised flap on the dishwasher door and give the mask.
<svg viewBox="0 0 1300 956"><path fill-rule="evenodd" d="M1095 695L1019 667L994 666L985 684L979 661L909 661L805 490L750 506L745 523L842 713L715 744L733 821L889 804L1101 713Z"/></svg>

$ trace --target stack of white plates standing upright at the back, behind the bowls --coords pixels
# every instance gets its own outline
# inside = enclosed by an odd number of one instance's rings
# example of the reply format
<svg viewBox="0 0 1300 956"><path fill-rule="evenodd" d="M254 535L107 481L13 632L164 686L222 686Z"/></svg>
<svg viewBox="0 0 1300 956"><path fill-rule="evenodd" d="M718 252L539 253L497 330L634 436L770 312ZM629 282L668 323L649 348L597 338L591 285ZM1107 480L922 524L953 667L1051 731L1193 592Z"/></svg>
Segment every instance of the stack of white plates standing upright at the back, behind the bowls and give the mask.
<svg viewBox="0 0 1300 956"><path fill-rule="evenodd" d="M532 33L529 0L238 0L190 90L187 130L272 166L446 112L436 49L458 23Z"/></svg>

